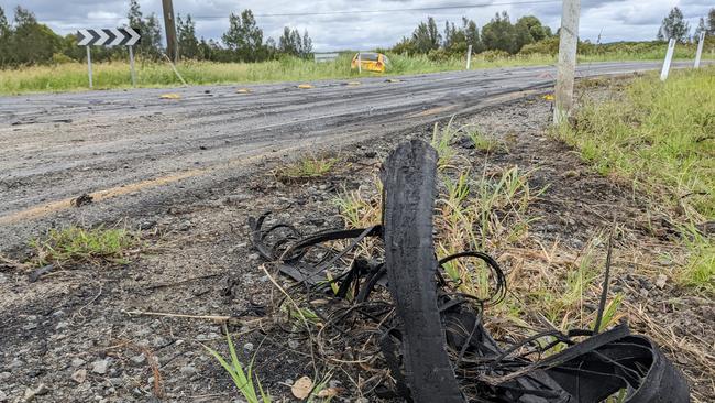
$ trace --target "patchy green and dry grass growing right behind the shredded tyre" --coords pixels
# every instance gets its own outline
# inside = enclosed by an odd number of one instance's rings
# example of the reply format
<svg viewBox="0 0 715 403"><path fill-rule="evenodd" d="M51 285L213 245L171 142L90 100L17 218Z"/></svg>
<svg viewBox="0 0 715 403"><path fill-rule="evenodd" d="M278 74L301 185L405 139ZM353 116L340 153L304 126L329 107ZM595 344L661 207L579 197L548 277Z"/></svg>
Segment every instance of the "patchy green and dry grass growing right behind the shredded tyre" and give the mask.
<svg viewBox="0 0 715 403"><path fill-rule="evenodd" d="M435 248L442 259L462 251L482 251L501 255L507 264L510 292L503 303L491 306L496 337L516 339L531 335L543 316L562 331L592 328L595 313L584 304L596 304L605 265L603 247L607 236L598 235L583 250L564 249L558 242L550 248L529 233L540 219L531 205L546 188L529 184L532 172L518 166L480 166L461 154L453 144L461 137L493 139L471 126L455 127L453 121L436 126L432 146L439 155L438 195L435 206ZM488 155L493 146L475 148ZM375 188L345 192L334 204L349 228L365 228L380 222L382 184ZM371 255L378 248L363 241L361 253ZM481 260L454 260L444 264L444 274L457 291L486 298L495 286L494 273ZM601 324L606 328L623 316L618 312L622 295L607 303Z"/></svg>

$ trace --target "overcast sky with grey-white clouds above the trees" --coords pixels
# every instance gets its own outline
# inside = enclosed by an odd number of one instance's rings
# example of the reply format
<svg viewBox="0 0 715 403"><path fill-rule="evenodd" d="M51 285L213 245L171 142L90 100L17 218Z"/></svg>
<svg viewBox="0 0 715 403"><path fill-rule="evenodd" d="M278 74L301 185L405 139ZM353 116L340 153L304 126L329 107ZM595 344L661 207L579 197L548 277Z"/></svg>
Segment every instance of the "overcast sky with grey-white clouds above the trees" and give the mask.
<svg viewBox="0 0 715 403"><path fill-rule="evenodd" d="M521 4L518 4L521 3ZM668 11L678 6L691 28L707 13L714 0L582 0L581 37L603 42L652 40ZM127 22L129 0L0 0L9 19L11 9L22 4L35 13L41 22L59 34L79 28L121 26ZM407 10L415 8L492 4L479 8L442 10ZM161 0L140 0L144 14L155 12L162 20ZM230 12L253 10L266 36L277 39L284 25L308 30L316 51L342 48L369 50L389 46L409 35L415 25L432 15L442 29L444 20L459 21L462 15L476 21L481 28L494 13L506 10L512 20L534 14L554 31L559 26L561 1L554 0L174 0L174 11L190 13L197 24L198 36L220 39L228 26ZM389 12L366 12L392 10ZM351 13L334 13L359 11ZM314 13L312 15L296 15ZM315 14L323 13L323 14ZM278 15L283 14L283 15ZM293 14L293 15L286 15Z"/></svg>

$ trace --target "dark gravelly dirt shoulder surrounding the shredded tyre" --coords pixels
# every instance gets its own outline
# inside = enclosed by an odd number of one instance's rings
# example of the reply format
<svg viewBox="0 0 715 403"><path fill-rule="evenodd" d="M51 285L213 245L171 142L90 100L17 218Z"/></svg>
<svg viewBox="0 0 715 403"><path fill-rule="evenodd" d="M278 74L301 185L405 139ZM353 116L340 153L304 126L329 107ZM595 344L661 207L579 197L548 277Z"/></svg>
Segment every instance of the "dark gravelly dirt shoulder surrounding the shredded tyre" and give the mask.
<svg viewBox="0 0 715 403"><path fill-rule="evenodd" d="M571 149L544 135L550 107L532 97L455 121L477 124L508 149L487 155L458 143L473 171L517 165L532 171L534 188L546 187L530 208L540 217L529 228L532 243L502 250L497 258L508 271L515 266L509 254L539 260L543 249L579 251L619 224L614 291L630 307L625 312L631 327L654 337L669 353L671 348L685 351L670 357L685 370L696 401L714 400L707 369L702 368L702 360L712 357L698 359L697 352L715 342L710 319L715 305L671 281L675 262L664 257L678 250L667 225L649 216L646 199L592 173ZM37 402L242 401L201 346L226 349L221 325L136 314L151 312L241 317L231 326L240 353L246 361L255 355L254 370L264 388L278 400L289 400L289 385L316 368L305 340L264 331L251 322L258 315L255 307L276 290L260 269L263 262L251 247L248 218L272 210L273 222L294 224L304 233L340 228L333 198L344 190L372 188L381 161L398 141L430 135L431 127L425 127L348 148L331 174L305 183L285 185L270 174L245 177L162 215L131 218L143 228L147 244L142 258L127 266L67 268L29 283L25 272L0 265L0 396L21 401L28 391L38 391ZM279 163L267 162L265 171ZM661 274L667 279L662 286ZM365 379L355 377L361 371L344 366L333 372L341 399L375 401L363 395Z"/></svg>

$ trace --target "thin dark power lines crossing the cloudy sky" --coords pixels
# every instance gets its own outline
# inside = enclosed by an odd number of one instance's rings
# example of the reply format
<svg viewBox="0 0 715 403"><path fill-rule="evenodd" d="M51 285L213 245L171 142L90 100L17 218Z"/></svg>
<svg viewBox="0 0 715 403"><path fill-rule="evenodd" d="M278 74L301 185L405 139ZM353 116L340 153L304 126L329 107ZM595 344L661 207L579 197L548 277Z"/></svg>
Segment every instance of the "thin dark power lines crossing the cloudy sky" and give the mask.
<svg viewBox="0 0 715 403"><path fill-rule="evenodd" d="M318 15L352 15L352 14L377 14L377 13L395 13L395 12L415 12L415 11L440 11L440 10L465 10L465 9L481 9L495 6L521 6L521 4L546 4L546 3L560 3L561 0L527 0L527 1L501 1L492 3L472 3L472 4L455 4L455 6L433 6L433 7L416 7L405 9L380 9L380 10L339 10L339 11L315 11L315 12L284 12L284 13L267 13L254 14L256 18L276 18L276 17L318 17ZM228 15L191 15L194 20L215 20L226 19ZM78 21L79 19L68 18L52 18L48 21ZM127 20L125 17L117 18L92 18L92 20L117 21ZM86 20L82 20L86 21Z"/></svg>

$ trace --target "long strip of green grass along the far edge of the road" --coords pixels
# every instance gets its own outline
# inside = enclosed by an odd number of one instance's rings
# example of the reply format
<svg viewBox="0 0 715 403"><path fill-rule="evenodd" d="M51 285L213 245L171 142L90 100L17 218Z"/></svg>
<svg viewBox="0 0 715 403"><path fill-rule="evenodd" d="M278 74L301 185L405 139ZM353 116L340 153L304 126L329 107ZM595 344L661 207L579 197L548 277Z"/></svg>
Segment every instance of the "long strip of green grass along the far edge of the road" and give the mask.
<svg viewBox="0 0 715 403"><path fill-rule="evenodd" d="M664 52L664 50L663 50ZM580 62L605 62L624 59L662 59L662 52L605 53L580 56ZM689 50L679 51L676 58L692 58ZM708 57L710 55L706 55ZM178 64L178 70L189 85L248 84L275 81L312 81L318 79L348 79L359 76L380 76L350 69L352 54L343 53L337 61L315 63L294 57L264 63L212 63L186 61ZM422 74L463 69L465 57L447 57L432 61L425 55L403 56L391 54L392 66L386 75ZM548 65L556 56L544 54L495 56L492 53L472 57L471 68ZM97 63L92 65L96 89L130 88L131 76L127 62ZM139 62L136 64L138 86L175 87L182 81L167 63ZM46 91L86 90L88 87L87 65L63 63L50 66L24 66L18 69L0 69L0 94L24 94Z"/></svg>

